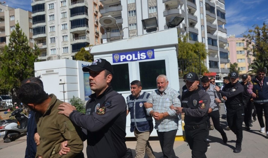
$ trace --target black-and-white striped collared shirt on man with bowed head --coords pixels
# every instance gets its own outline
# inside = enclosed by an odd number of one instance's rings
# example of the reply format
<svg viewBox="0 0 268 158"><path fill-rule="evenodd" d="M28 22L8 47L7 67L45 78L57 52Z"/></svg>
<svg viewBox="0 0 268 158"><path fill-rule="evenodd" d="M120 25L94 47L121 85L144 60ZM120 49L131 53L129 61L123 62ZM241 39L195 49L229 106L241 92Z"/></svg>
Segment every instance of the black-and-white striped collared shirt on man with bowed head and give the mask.
<svg viewBox="0 0 268 158"><path fill-rule="evenodd" d="M221 98L221 94L219 92L217 92L214 88L215 88L215 85L213 85L213 84L209 84L208 90L205 90L204 87L201 88L203 91L205 91L205 92L207 92L207 94L209 94L209 97L211 100L209 108L211 108L212 111L219 110L219 103L217 103L215 101L215 98L218 98L218 99Z"/></svg>

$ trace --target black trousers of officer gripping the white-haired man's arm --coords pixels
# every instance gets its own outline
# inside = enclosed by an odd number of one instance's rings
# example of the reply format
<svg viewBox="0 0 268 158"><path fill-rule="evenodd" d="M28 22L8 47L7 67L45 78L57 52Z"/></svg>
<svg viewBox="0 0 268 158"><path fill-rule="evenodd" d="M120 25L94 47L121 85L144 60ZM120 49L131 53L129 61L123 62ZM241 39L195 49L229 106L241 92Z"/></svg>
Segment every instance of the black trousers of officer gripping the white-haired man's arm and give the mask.
<svg viewBox="0 0 268 158"><path fill-rule="evenodd" d="M192 150L192 158L206 158L207 143L209 142L209 129L207 126L189 130L185 128L185 137Z"/></svg>

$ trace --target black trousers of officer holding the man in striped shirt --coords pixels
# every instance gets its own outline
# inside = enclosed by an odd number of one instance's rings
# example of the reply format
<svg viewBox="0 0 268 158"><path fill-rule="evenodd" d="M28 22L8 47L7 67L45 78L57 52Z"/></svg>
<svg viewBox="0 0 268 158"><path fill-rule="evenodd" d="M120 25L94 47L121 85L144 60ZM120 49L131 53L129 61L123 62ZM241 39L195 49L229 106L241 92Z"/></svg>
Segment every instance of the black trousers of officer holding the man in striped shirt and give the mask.
<svg viewBox="0 0 268 158"><path fill-rule="evenodd" d="M233 133L236 134L236 145L242 144L243 130L242 123L244 121L244 106L230 108L227 106L227 123Z"/></svg>

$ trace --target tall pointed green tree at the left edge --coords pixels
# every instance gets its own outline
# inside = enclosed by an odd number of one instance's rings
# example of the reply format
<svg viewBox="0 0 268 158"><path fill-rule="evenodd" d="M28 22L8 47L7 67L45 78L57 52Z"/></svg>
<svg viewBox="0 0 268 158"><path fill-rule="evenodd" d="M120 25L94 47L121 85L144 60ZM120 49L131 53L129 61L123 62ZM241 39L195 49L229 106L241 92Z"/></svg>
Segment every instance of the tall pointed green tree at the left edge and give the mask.
<svg viewBox="0 0 268 158"><path fill-rule="evenodd" d="M0 54L0 93L8 93L19 87L22 80L34 76L34 62L38 61L40 51L29 46L27 36L19 23L10 34L9 44Z"/></svg>

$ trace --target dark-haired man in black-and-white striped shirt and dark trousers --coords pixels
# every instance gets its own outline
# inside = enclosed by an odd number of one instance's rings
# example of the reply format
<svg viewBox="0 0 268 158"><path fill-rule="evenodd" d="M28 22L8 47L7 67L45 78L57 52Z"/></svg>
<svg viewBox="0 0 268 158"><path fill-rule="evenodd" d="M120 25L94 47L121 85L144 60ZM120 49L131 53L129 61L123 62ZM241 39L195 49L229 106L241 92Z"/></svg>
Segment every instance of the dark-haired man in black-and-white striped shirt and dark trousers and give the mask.
<svg viewBox="0 0 268 158"><path fill-rule="evenodd" d="M214 88L215 86L209 83L209 78L207 76L203 76L201 78L202 90L207 92L210 97L210 105L209 105L209 117L211 117L214 127L219 133L221 133L222 140L224 143L227 142L227 136L224 130L222 129L219 123L219 103L221 102L221 95Z"/></svg>

